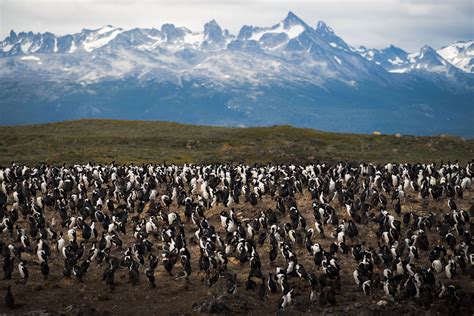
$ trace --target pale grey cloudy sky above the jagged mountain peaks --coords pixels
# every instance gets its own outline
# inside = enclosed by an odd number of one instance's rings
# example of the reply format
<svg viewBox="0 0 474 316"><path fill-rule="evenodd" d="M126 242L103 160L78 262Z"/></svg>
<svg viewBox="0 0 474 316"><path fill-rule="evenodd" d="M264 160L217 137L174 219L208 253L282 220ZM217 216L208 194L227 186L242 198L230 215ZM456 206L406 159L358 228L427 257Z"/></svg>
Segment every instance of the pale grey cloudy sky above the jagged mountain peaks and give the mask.
<svg viewBox="0 0 474 316"><path fill-rule="evenodd" d="M11 29L63 35L107 24L200 31L211 19L236 34L244 24L276 24L290 10L311 26L325 21L353 46L417 51L474 39L474 0L0 0L0 37Z"/></svg>

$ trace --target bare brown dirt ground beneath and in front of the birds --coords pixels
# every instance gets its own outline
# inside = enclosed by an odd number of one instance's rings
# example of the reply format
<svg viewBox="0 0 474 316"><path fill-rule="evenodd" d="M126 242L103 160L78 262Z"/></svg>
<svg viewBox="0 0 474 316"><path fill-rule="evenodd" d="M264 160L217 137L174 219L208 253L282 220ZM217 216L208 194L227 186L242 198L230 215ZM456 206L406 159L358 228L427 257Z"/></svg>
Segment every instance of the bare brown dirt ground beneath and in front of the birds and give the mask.
<svg viewBox="0 0 474 316"><path fill-rule="evenodd" d="M311 207L311 197L306 191L303 196L297 196L298 209L305 216L308 226L314 226L314 217ZM473 190L465 192L463 199L457 199L458 207L469 210L474 204ZM341 218L347 218L345 210L339 206L337 202L332 203L333 207L338 210ZM275 201L266 196L256 207L250 204L236 205L235 209L240 214L241 218L252 218L261 210L267 208L275 208ZM212 208L206 212L208 220L223 233L223 228L220 225L219 213L225 210L220 205ZM441 220L444 213L448 210L446 199L441 201L421 200L416 195L411 194L411 197L405 198L402 204L402 214L407 211L414 211L419 215L426 215L433 212L437 215L437 219ZM171 211L176 211L184 217L184 209L178 208L176 205L171 206ZM397 219L402 220L401 215L398 216L390 210ZM145 212L142 216L145 215ZM59 217L54 214L53 209L46 209L45 217ZM289 221L288 212L286 217L281 218L280 222ZM472 221L472 219L471 219ZM19 220L20 224L24 224L24 220ZM58 229L57 224L56 229ZM190 239L194 233L192 223L185 225L186 238ZM353 245L355 243L365 242L366 246L377 247L377 238L375 235L375 224L368 226L359 225L360 235L354 241L347 241L347 244ZM121 236L124 244L131 241L131 224L127 227L128 235ZM332 233L332 228L328 228L327 235ZM402 228L403 232L406 228ZM222 234L221 234L222 235ZM430 249L438 243L439 235L432 229L429 233ZM9 240L5 233L1 235L4 242L13 242ZM326 237L325 239L319 236L313 237L313 241L323 245L325 249L329 247L334 239ZM154 253L161 255L161 241L154 239ZM91 242L86 247L86 253L90 248ZM203 280L203 274L199 272L198 258L199 249L197 245L188 243L188 249L192 255L192 269L193 272L190 277L191 284L185 284L178 280L175 281L164 270L161 262L156 270L156 285L155 289L151 289L144 274L144 267L140 268L140 283L137 286L131 286L128 283L128 270L121 268L115 275L117 285L113 290L101 281L102 271L104 267L99 267L94 262L91 264L90 270L85 276L84 283L79 283L75 278L65 278L62 276L63 259L59 253L55 251L55 244L51 244L52 256L50 258L50 277L44 281L39 270L39 265L36 263L36 255L31 256L24 254L24 258L28 261L28 269L30 278L26 285L20 284L20 276L18 273L18 261L15 261L15 271L12 280L0 281L0 295L2 302L0 304L0 313L14 313L31 315L39 315L44 313L50 314L66 314L66 315L95 315L95 314L112 314L112 315L182 315L194 314L201 311L228 313L248 313L248 314L275 314L279 313L278 302L281 299L281 293L270 294L267 291L266 297L263 301L258 298L257 292L248 292L245 290L245 280L249 272L248 264L241 266L239 261L230 258L228 270L230 273L237 273L237 293L234 295L225 294L226 283L222 278L213 287L206 286ZM318 276L322 273L318 271L313 263L313 257L308 255L304 247L295 246L294 250L297 253L299 263L302 263L307 272L313 271ZM274 272L276 266L286 267L286 261L278 254L275 264L270 265L268 260L269 243L268 239L263 246L259 248L259 254L262 259L262 271L265 275L268 272ZM112 255L119 256L119 250L113 250ZM395 299L391 301L385 297L381 286L377 286L373 290L370 297L366 297L362 291L356 286L352 273L356 267L356 261L350 254L338 254L339 264L341 266L341 289L336 291L336 305L321 307L318 302L309 302L310 287L307 282L303 282L298 278L291 278L289 280L292 287L295 288L293 304L280 313L311 313L311 314L348 314L348 315L436 315L448 314L450 311L444 303L435 302L429 309L420 306L413 300ZM420 260L417 266L429 266L428 254L420 250ZM179 264L175 267L174 272L180 269ZM380 272L383 267L375 268L375 272ZM461 310L462 314L472 314L474 301L474 273L472 267L468 267L466 271L460 272L454 280L448 280L445 273L436 274L437 281L443 282L446 286L454 284L460 292L463 293L463 306L471 308L464 308ZM3 305L3 296L8 285L11 285L13 295L15 297L15 308L7 310ZM381 303L382 301L382 303ZM213 304L213 303L220 304ZM385 305L384 305L385 304ZM210 305L213 305L209 307ZM206 309L207 306L207 309Z"/></svg>

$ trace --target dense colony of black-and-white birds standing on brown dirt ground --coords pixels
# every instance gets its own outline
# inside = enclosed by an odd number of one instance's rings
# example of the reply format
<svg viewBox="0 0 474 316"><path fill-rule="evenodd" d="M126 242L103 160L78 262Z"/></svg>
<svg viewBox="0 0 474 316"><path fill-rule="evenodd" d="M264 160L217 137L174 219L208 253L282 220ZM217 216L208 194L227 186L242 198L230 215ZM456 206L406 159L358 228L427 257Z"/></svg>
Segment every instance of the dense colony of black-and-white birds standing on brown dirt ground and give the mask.
<svg viewBox="0 0 474 316"><path fill-rule="evenodd" d="M341 277L349 275L367 296L425 307L443 300L459 311L470 302L453 280L472 280L474 269L473 177L474 160L465 166L12 163L0 168L3 279L24 286L37 273L89 282L90 271L100 269L100 282L113 288L125 270L131 285L144 275L155 288L155 272L164 269L184 287L199 273L205 286L224 284L227 295L279 295L278 308L285 309L296 292L321 306L336 304ZM311 207L301 207L303 197ZM414 200L439 210L407 209ZM463 203L466 209L457 205ZM54 260L62 269L50 268ZM341 269L341 260L355 270ZM10 286L5 304L14 306Z"/></svg>

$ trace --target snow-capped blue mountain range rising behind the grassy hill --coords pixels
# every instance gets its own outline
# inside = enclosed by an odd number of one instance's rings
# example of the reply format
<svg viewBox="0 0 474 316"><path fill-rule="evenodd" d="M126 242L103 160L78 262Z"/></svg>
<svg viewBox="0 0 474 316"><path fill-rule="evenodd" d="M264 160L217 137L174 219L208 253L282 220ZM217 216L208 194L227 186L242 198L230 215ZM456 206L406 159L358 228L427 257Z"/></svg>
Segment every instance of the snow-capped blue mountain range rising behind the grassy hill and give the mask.
<svg viewBox="0 0 474 316"><path fill-rule="evenodd" d="M465 115L474 79L456 68L466 68L472 45L457 45L355 49L292 12L235 35L215 20L200 31L11 31L0 42L0 123L92 116L474 135ZM348 115L351 124L339 121Z"/></svg>

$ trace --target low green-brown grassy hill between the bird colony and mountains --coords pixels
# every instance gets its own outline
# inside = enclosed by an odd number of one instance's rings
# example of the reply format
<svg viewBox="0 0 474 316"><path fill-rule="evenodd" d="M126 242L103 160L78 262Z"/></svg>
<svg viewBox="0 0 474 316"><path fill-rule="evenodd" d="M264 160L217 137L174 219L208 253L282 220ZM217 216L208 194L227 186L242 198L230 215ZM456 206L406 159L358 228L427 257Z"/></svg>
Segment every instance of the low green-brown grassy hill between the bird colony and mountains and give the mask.
<svg viewBox="0 0 474 316"><path fill-rule="evenodd" d="M227 128L78 120L0 126L0 165L111 162L432 162L474 158L474 140L355 135L291 126Z"/></svg>

